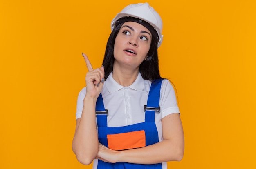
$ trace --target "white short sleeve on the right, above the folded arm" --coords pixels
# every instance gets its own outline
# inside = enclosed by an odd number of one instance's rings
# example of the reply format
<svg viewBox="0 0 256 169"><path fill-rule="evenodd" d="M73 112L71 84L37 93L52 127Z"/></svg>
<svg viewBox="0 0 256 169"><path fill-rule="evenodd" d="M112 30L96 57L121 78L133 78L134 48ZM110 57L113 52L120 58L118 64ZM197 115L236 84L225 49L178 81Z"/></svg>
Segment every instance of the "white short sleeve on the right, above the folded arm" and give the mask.
<svg viewBox="0 0 256 169"><path fill-rule="evenodd" d="M175 91L170 81L167 79L164 79L162 82L159 106L161 108L162 118L169 114L180 113Z"/></svg>

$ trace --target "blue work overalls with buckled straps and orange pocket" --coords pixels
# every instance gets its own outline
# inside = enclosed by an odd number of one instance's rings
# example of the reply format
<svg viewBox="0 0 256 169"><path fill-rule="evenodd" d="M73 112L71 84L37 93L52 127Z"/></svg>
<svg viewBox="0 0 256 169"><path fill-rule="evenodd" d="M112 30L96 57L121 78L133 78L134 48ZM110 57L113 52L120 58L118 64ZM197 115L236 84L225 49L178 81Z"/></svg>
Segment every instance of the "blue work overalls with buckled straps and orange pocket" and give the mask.
<svg viewBox="0 0 256 169"><path fill-rule="evenodd" d="M160 112L161 84L162 79L151 83L147 105L144 106L145 122L122 127L108 127L108 112L104 108L100 94L96 103L99 142L113 150L135 149L159 142L155 113ZM144 165L127 162L108 163L98 160L97 169L162 169L162 163Z"/></svg>

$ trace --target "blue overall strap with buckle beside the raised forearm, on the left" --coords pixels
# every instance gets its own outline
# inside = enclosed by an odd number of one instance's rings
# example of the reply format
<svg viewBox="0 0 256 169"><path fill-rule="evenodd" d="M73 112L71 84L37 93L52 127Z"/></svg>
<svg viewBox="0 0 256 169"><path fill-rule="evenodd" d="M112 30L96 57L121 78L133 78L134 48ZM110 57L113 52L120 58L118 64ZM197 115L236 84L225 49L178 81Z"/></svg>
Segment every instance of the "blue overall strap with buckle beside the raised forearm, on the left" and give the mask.
<svg viewBox="0 0 256 169"><path fill-rule="evenodd" d="M99 94L99 97L97 98L97 101L96 101L96 116L97 116L98 127L106 127L108 111L105 110L101 93Z"/></svg>

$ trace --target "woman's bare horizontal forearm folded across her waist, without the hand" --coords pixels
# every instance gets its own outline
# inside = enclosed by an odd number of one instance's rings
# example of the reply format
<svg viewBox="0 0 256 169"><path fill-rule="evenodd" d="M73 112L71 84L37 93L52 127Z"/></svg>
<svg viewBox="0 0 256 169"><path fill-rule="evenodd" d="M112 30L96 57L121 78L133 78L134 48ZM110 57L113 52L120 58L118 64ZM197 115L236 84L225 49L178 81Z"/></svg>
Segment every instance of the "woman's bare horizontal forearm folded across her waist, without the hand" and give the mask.
<svg viewBox="0 0 256 169"><path fill-rule="evenodd" d="M167 161L180 161L183 157L184 146L175 144L172 140L164 140L153 145L138 149L119 151L117 162L137 164L156 164Z"/></svg>

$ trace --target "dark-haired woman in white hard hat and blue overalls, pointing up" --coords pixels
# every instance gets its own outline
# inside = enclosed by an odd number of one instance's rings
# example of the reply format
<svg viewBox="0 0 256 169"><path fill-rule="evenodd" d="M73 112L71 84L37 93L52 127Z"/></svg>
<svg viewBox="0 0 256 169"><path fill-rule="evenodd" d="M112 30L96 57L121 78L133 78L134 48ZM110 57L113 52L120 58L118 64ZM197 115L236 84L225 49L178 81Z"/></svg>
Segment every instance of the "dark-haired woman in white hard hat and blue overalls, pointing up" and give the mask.
<svg viewBox="0 0 256 169"><path fill-rule="evenodd" d="M112 20L104 67L93 69L83 54L88 73L72 144L79 162L94 160L94 169L161 169L182 159L175 91L159 74L161 33L162 20L148 3L131 4Z"/></svg>

